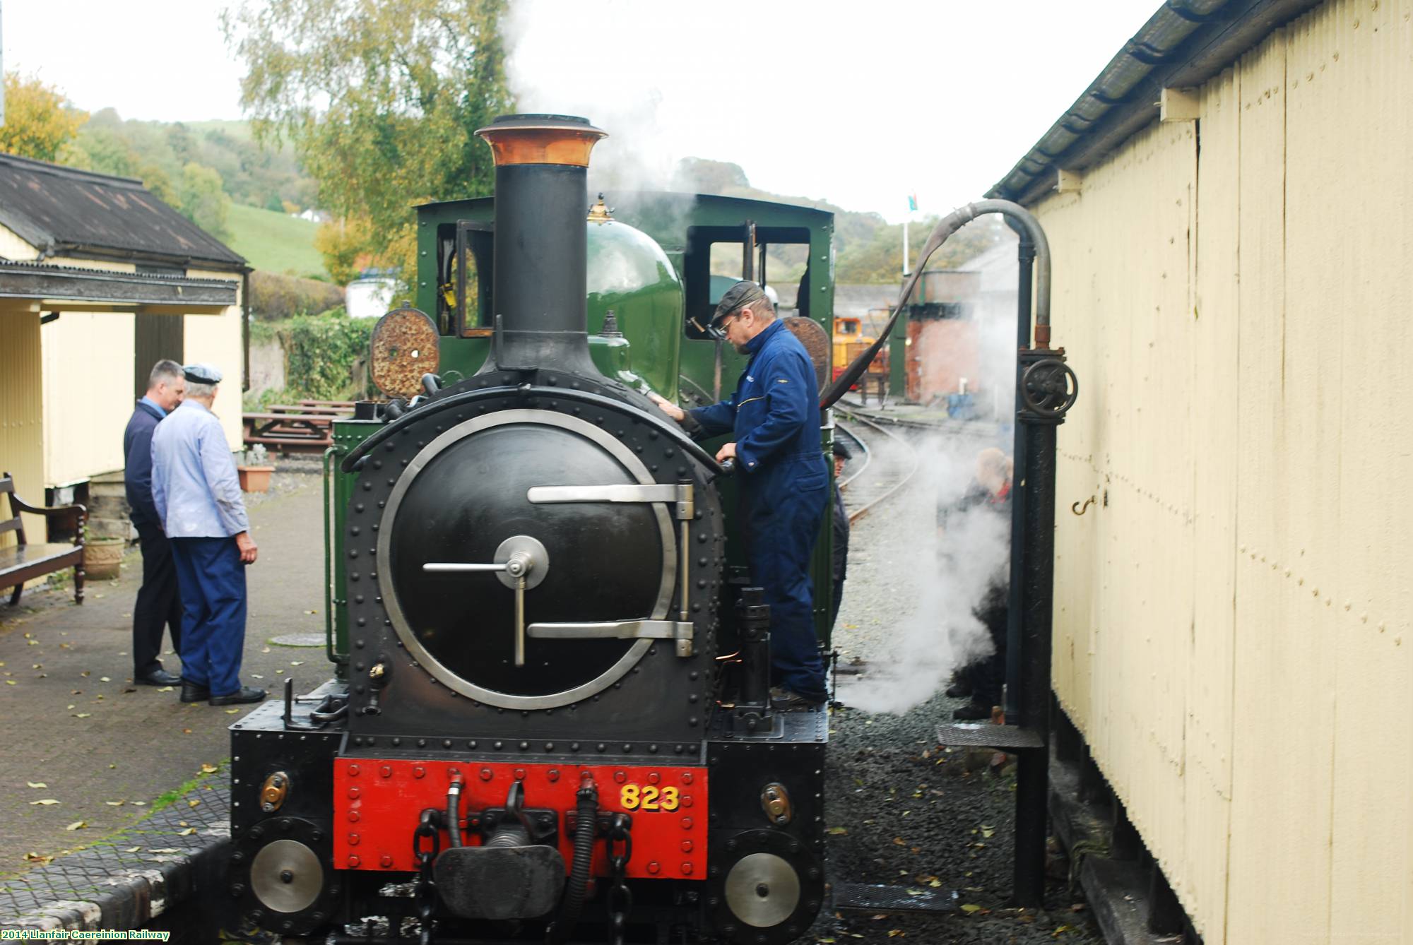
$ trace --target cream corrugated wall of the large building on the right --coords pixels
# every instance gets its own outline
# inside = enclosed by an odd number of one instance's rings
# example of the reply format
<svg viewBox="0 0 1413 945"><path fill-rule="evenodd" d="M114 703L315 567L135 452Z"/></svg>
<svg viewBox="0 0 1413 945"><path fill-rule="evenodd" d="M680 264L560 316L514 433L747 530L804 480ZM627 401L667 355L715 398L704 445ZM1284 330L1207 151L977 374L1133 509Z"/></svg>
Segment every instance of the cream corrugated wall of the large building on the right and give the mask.
<svg viewBox="0 0 1413 945"><path fill-rule="evenodd" d="M1033 208L1056 692L1207 945L1413 942L1410 89L1325 3Z"/></svg>

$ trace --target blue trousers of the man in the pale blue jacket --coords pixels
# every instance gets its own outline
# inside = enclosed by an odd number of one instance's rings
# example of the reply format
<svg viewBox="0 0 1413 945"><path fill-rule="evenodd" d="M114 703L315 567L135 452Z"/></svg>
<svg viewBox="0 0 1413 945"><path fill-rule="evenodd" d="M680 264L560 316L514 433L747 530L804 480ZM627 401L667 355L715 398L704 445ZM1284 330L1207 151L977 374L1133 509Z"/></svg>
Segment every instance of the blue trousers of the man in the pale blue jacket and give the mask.
<svg viewBox="0 0 1413 945"><path fill-rule="evenodd" d="M240 691L246 569L233 538L172 538L181 582L182 679L212 696Z"/></svg>

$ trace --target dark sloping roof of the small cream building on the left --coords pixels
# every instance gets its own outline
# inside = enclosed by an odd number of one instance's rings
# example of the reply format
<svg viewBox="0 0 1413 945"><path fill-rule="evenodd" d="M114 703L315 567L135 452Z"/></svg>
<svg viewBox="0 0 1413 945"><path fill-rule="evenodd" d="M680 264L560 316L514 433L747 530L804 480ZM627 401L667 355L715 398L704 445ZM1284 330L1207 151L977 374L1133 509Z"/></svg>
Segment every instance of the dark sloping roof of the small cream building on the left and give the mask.
<svg viewBox="0 0 1413 945"><path fill-rule="evenodd" d="M0 154L0 223L45 254L137 254L242 267L246 260L141 181Z"/></svg>

